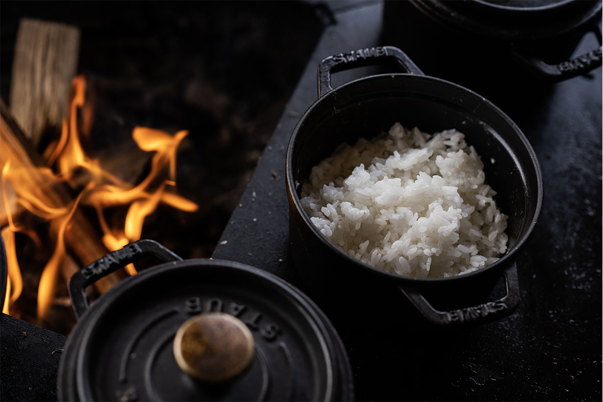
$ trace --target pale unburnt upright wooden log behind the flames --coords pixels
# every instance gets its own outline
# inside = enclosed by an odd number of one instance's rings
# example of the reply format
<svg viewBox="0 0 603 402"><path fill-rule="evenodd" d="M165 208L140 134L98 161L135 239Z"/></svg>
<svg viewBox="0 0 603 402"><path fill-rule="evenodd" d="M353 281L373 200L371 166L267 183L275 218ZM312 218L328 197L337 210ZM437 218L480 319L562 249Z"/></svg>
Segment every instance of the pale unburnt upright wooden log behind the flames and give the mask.
<svg viewBox="0 0 603 402"><path fill-rule="evenodd" d="M79 50L75 27L26 18L19 24L10 110L34 145L48 127L61 127Z"/></svg>

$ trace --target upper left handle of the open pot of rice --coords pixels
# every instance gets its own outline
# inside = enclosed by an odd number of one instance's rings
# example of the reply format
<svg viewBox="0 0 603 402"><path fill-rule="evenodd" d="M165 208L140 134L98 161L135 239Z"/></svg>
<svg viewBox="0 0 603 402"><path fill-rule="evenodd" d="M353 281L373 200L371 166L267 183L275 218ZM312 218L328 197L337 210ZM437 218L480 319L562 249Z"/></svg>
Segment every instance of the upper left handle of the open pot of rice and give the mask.
<svg viewBox="0 0 603 402"><path fill-rule="evenodd" d="M425 75L402 50L394 46L377 46L376 48L333 54L318 65L318 98L333 91L331 86L331 74L333 72L381 64L392 58L397 59L400 66L409 74Z"/></svg>

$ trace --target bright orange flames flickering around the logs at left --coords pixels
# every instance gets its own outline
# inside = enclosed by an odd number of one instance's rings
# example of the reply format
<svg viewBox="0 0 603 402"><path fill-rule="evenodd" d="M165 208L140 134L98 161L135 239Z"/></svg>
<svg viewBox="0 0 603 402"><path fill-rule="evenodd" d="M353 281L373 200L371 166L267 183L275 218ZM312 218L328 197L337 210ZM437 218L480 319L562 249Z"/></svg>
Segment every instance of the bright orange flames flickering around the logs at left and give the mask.
<svg viewBox="0 0 603 402"><path fill-rule="evenodd" d="M44 174L49 179L48 182L52 183L71 180L74 178L74 174L81 170L90 174L91 179L88 185L81 191L73 205L63 205L58 208L45 205L36 195L43 189L21 185L22 182L25 182L20 179L20 175L25 174L24 171L19 168L11 168L10 162L2 167L2 186L4 187L6 180L10 181L17 193L17 202L32 214L47 220L54 220L55 225L58 225L54 253L40 278L37 306L39 317L43 317L48 312L52 303L58 270L66 254L65 231L78 205L88 205L96 209L99 226L103 231L102 241L110 251L119 249L131 241L139 240L145 218L153 214L160 202L188 212L194 212L198 208L194 202L173 191L166 191L166 185L171 188L175 187L177 149L188 135L188 131L181 130L172 136L161 130L135 127L132 133L134 141L140 149L154 152L154 155L151 159L151 170L148 176L138 185L133 186L103 170L98 161L89 158L84 152L78 135L78 110L86 112L84 110L86 107L85 94L86 80L79 75L72 81L73 98L68 115L63 120L60 138L44 152L49 167L39 170L39 174ZM90 114L90 110L87 112ZM57 174L52 173L51 167L54 165L57 168ZM9 228L2 231L7 245L7 257L10 257L8 262L10 291L7 291L7 298L10 295L10 301L14 302L22 289L21 273L14 253L14 232L27 232L30 237L37 237L32 231L28 232L27 229L20 228L13 222L10 211L8 211L6 197L4 197L4 204L9 222ZM122 228L111 228L104 217L104 208L114 206L128 206ZM88 262L86 261L86 263ZM130 275L136 273L132 264L127 266L126 270ZM4 310L8 311L8 303L5 304Z"/></svg>

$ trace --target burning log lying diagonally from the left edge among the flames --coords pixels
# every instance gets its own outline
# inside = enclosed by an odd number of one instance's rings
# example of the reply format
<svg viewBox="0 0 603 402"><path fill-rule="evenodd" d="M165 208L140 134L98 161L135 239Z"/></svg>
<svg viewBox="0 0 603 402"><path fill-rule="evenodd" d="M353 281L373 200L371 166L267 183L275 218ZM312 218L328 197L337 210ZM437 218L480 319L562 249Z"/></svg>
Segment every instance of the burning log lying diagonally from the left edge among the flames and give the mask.
<svg viewBox="0 0 603 402"><path fill-rule="evenodd" d="M22 169L24 174L20 177L21 182L25 182L45 205L52 208L72 205L74 200L62 185L55 183L51 171L48 168L40 169L44 166L42 159L25 138L2 101L0 101L0 148L2 150L0 167L10 161L11 169ZM52 225L51 228L56 235L57 228L53 228ZM80 211L75 211L66 229L65 243L82 267L109 252L96 230ZM124 277L125 273L120 270L96 282L96 288L104 293Z"/></svg>

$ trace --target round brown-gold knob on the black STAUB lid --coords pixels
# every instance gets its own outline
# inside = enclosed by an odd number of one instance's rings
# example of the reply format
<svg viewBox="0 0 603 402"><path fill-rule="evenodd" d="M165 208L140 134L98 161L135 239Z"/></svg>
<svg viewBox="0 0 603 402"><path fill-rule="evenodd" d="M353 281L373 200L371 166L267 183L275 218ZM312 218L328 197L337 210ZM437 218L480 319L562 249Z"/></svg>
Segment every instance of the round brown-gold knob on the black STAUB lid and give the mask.
<svg viewBox="0 0 603 402"><path fill-rule="evenodd" d="M226 381L247 368L254 356L251 331L230 314L203 313L178 328L174 356L182 371L203 381Z"/></svg>

